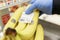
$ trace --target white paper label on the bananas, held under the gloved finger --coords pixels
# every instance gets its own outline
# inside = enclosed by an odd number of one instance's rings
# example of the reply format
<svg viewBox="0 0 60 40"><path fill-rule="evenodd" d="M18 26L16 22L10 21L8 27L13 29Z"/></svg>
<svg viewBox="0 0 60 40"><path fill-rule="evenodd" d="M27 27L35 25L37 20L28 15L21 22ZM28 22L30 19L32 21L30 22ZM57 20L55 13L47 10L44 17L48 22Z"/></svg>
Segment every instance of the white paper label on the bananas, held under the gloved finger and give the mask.
<svg viewBox="0 0 60 40"><path fill-rule="evenodd" d="M23 12L19 21L24 23L31 23L33 17L34 17L34 13L31 13L28 15L28 14L25 14L25 12Z"/></svg>

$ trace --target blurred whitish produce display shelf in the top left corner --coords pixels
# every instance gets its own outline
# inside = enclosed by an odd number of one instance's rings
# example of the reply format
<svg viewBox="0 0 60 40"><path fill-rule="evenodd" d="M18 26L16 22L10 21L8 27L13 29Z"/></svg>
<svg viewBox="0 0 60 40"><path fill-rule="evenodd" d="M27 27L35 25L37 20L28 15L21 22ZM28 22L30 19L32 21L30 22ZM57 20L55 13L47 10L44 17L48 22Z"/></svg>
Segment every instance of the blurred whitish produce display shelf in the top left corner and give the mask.
<svg viewBox="0 0 60 40"><path fill-rule="evenodd" d="M27 1L29 0L0 0L0 10L12 7L14 5L20 5L21 3Z"/></svg>

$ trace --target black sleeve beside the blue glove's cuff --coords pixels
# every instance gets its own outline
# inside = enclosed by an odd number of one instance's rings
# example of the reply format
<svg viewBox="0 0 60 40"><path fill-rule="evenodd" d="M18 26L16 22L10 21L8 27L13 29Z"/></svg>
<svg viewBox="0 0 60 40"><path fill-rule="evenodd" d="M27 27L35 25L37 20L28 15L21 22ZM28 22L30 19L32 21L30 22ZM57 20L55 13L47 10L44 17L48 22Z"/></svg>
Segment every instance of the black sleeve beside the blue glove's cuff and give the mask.
<svg viewBox="0 0 60 40"><path fill-rule="evenodd" d="M60 14L60 0L53 0L52 14Z"/></svg>

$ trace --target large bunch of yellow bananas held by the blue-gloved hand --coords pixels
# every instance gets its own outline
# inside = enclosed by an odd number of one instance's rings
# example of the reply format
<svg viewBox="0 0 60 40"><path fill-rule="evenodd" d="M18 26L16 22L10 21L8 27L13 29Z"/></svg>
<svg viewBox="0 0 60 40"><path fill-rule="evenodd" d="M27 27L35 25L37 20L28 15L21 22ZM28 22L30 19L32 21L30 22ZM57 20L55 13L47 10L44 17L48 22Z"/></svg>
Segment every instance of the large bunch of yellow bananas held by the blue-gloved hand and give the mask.
<svg viewBox="0 0 60 40"><path fill-rule="evenodd" d="M38 25L39 11L33 11L34 17L32 19L32 23L23 23L19 21L18 25L16 26L22 12L24 12L25 9L26 7L20 7L16 10L15 14L5 25L3 32L10 27L15 28L21 40L43 40L43 29L41 25Z"/></svg>

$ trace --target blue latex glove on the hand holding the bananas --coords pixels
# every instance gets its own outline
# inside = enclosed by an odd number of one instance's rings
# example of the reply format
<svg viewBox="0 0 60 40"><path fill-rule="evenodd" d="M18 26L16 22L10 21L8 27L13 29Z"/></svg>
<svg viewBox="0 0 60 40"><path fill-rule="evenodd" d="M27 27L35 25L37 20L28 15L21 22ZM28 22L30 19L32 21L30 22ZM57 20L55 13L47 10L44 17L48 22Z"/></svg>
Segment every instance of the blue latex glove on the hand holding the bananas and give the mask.
<svg viewBox="0 0 60 40"><path fill-rule="evenodd" d="M52 14L53 0L31 0L31 6L26 10L26 14L30 14L34 9L39 9L44 13Z"/></svg>

